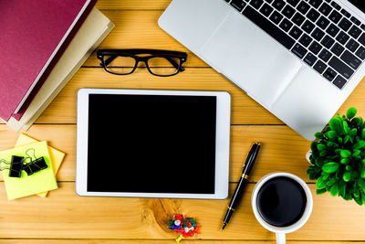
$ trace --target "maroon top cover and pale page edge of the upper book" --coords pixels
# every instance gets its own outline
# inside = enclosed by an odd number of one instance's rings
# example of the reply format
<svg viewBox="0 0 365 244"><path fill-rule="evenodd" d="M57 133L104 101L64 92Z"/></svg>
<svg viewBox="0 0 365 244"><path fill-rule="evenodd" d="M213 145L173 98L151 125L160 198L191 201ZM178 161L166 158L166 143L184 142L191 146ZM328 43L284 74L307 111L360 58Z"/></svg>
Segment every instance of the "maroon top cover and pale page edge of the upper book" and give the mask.
<svg viewBox="0 0 365 244"><path fill-rule="evenodd" d="M90 0L0 1L0 118L36 86Z"/></svg>

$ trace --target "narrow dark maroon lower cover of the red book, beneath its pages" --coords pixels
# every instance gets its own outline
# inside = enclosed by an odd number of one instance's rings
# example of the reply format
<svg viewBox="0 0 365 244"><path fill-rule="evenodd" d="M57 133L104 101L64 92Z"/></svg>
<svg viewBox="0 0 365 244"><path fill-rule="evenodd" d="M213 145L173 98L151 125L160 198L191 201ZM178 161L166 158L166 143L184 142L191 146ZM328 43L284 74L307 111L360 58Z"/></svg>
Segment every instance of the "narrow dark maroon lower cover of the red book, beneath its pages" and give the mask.
<svg viewBox="0 0 365 244"><path fill-rule="evenodd" d="M24 113L26 112L26 109L29 107L30 103L36 97L36 93L38 93L38 90L42 88L43 83L47 80L48 75L51 73L52 69L57 64L58 59L62 57L62 54L65 52L66 48L68 48L68 44L71 42L73 37L75 37L75 35L78 33L78 29L82 26L86 18L89 16L89 13L91 12L92 8L96 3L97 0L91 0L87 9L78 19L78 23L75 25L75 27L72 28L65 42L62 44L62 47L59 48L59 50L57 51L56 56L52 58L52 61L48 65L46 71L43 73L42 77L38 80L36 86L30 92L29 96L26 98L26 101L24 102L20 110L12 115L12 117L15 118L17 121L19 121L23 117Z"/></svg>

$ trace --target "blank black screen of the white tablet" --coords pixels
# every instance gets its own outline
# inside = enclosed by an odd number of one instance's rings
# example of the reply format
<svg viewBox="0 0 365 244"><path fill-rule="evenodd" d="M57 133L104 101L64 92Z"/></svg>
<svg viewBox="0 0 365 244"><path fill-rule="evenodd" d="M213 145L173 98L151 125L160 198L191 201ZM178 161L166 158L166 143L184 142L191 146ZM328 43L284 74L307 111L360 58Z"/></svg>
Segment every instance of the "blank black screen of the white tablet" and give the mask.
<svg viewBox="0 0 365 244"><path fill-rule="evenodd" d="M89 192L214 194L216 97L89 94Z"/></svg>

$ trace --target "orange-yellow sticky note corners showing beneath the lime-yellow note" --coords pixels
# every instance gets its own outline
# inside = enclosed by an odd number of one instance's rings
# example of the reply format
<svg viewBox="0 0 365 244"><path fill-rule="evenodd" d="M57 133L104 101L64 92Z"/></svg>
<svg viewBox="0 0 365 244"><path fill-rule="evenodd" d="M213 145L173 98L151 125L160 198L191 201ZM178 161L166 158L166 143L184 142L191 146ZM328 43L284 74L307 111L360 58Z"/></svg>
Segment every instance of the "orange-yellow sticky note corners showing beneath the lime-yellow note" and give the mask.
<svg viewBox="0 0 365 244"><path fill-rule="evenodd" d="M34 139L24 133L21 133L19 135L19 138L17 138L16 146L26 145L26 144L30 144L30 143L37 143L37 142L39 142L39 141L37 141L36 139ZM54 171L55 175L57 175L59 166L62 164L62 161L65 158L65 154L51 146L48 146L48 151L49 151L49 156L51 157L53 171ZM42 192L42 193L38 193L37 196L46 197L47 194L48 194L48 192Z"/></svg>

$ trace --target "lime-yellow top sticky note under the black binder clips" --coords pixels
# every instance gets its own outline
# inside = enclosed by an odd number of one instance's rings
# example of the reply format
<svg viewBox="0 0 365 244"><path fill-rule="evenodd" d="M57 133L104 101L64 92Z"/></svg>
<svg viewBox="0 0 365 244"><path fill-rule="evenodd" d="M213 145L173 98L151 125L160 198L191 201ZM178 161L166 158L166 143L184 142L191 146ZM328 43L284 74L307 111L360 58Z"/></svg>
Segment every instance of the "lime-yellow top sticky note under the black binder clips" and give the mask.
<svg viewBox="0 0 365 244"><path fill-rule="evenodd" d="M0 152L0 158L10 162L13 155L26 157L26 150L29 148L34 149L36 157L44 157L47 168L36 172L33 175L27 175L26 172L22 170L20 178L9 177L9 170L4 169L3 176L5 189L9 200L58 188L46 141L2 151Z"/></svg>

